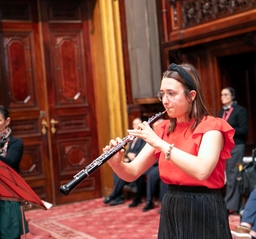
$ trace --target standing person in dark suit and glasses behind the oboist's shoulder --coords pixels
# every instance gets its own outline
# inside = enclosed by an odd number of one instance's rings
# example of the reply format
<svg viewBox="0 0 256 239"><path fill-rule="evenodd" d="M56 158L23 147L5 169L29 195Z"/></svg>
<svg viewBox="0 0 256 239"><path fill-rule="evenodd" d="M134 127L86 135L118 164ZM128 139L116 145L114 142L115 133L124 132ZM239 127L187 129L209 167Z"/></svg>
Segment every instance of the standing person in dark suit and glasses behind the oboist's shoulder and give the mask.
<svg viewBox="0 0 256 239"><path fill-rule="evenodd" d="M222 109L218 116L226 120L234 129L235 147L231 151L231 158L226 161L226 192L225 201L230 214L238 213L241 209L242 196L239 192L237 164L242 163L245 154L245 143L248 133L248 114L246 108L235 101L235 90L226 87L221 91Z"/></svg>

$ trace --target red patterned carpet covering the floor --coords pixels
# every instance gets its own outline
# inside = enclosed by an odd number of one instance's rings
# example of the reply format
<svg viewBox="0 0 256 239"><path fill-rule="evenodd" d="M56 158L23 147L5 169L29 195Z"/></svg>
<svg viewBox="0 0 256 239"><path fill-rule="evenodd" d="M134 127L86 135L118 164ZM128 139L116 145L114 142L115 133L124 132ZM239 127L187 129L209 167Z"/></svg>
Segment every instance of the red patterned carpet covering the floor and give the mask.
<svg viewBox="0 0 256 239"><path fill-rule="evenodd" d="M102 198L80 203L26 211L30 233L27 239L130 239L157 238L159 207L142 212L144 202L129 208L131 201L118 206L102 203ZM230 227L239 223L231 216ZM24 237L22 237L23 239Z"/></svg>

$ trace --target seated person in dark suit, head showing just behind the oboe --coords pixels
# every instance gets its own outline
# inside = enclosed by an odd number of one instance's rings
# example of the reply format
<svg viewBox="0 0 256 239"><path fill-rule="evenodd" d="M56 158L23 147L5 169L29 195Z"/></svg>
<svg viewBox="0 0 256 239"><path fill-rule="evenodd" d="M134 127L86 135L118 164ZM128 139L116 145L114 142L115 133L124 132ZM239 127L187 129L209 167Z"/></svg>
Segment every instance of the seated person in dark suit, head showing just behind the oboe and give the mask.
<svg viewBox="0 0 256 239"><path fill-rule="evenodd" d="M133 120L133 128L136 129L137 125L141 123L140 118L136 118ZM125 153L125 157L123 159L123 162L130 163L136 155L141 151L141 149L144 147L145 141L140 138L135 138L133 141L129 143L128 149ZM141 180L142 180L141 176ZM122 180L114 173L114 188L111 194L104 198L103 203L109 204L110 206L119 205L124 203L124 197L123 197L123 188L125 185L127 185L128 182ZM134 199L131 204L129 204L129 207L136 207L138 204L142 202L142 190L134 189Z"/></svg>

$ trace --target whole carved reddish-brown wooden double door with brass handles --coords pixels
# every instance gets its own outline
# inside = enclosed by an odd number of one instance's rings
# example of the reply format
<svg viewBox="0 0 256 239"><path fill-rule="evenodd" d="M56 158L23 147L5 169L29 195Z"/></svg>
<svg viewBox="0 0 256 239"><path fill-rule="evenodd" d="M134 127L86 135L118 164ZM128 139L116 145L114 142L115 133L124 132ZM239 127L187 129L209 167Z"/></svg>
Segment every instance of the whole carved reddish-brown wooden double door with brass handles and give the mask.
<svg viewBox="0 0 256 239"><path fill-rule="evenodd" d="M0 103L24 142L21 176L55 205L101 196L97 171L59 190L98 157L89 2L0 1Z"/></svg>

